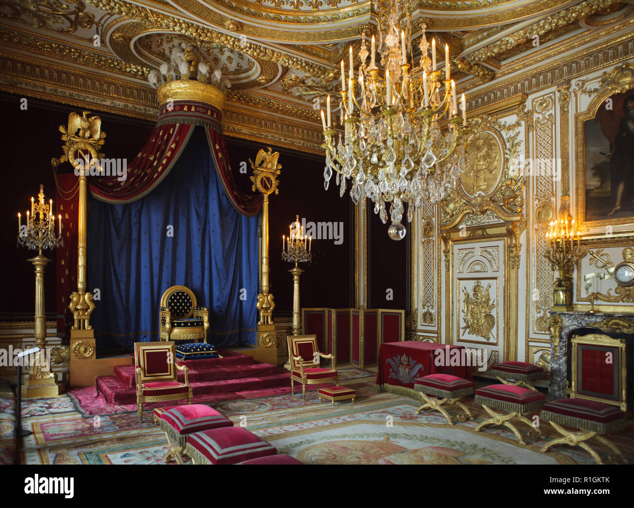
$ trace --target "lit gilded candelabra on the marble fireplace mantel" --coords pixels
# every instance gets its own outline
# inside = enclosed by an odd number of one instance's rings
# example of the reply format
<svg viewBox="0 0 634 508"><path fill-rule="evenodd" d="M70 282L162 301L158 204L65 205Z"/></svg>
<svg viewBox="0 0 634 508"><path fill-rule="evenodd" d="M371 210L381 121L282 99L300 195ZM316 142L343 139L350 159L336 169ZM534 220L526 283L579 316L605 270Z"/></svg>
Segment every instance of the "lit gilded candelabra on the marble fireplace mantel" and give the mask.
<svg viewBox="0 0 634 508"><path fill-rule="evenodd" d="M553 283L553 310L573 310L574 265L588 254L588 247L581 246L581 237L575 229L574 219L551 222L546 239L548 250L544 256L550 261L552 270L557 270Z"/></svg>

